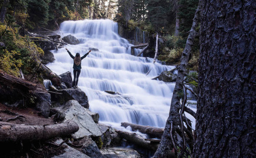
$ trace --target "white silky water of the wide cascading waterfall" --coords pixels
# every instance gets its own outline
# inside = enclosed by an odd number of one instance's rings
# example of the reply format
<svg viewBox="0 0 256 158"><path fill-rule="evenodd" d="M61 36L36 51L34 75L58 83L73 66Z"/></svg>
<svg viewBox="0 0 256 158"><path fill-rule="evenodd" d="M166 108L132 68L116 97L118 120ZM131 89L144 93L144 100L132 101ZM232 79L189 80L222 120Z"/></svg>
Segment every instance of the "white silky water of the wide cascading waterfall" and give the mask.
<svg viewBox="0 0 256 158"><path fill-rule="evenodd" d="M88 96L89 109L99 113L101 123L116 128L121 128L121 122L165 126L175 83L151 78L174 66L131 55L132 45L118 35L118 25L111 20L65 21L60 29L63 37L72 34L80 40L78 45L67 46L73 55L99 49L82 60L78 86ZM52 52L56 60L47 66L58 75L70 71L73 77L73 60L67 51Z"/></svg>

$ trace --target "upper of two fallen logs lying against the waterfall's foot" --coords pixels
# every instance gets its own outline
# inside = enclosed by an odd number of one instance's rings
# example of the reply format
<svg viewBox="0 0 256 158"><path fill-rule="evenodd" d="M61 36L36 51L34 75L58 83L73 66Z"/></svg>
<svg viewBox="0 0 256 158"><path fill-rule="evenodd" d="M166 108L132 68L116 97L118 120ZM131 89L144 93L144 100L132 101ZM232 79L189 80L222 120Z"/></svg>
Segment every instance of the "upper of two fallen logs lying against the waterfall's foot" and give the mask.
<svg viewBox="0 0 256 158"><path fill-rule="evenodd" d="M163 135L163 128L157 128L157 127L152 127L152 126L142 126L142 125L137 125L137 124L131 124L128 122L122 122L121 126L124 126L125 128L130 126L131 130L136 131L138 130L139 132L145 133L150 135L151 137L157 137L161 138Z"/></svg>

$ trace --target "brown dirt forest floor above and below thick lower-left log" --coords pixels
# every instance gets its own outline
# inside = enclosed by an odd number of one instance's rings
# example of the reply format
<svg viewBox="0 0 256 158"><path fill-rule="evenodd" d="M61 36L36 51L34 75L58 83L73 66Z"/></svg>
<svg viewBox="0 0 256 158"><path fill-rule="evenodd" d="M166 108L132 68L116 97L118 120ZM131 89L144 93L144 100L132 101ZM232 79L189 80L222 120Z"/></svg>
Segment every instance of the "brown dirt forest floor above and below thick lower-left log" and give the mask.
<svg viewBox="0 0 256 158"><path fill-rule="evenodd" d="M9 118L15 118L15 116L22 115L15 120L7 121ZM0 117L4 122L13 124L26 124L26 125L49 125L55 124L52 118L44 118L41 113L32 108L14 108L8 107L0 103ZM60 155L64 153L65 145L56 147L52 142L56 140L47 141L29 141L20 142L17 144L2 144L0 153L3 158L50 158L54 155Z"/></svg>

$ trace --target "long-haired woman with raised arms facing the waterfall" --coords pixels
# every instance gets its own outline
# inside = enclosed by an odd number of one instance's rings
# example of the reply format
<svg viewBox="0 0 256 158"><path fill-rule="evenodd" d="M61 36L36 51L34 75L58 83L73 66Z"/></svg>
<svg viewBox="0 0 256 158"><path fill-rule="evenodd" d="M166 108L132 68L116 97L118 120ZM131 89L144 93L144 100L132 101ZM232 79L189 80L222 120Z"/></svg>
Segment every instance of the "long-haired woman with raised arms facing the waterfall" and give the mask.
<svg viewBox="0 0 256 158"><path fill-rule="evenodd" d="M67 48L65 48L67 50ZM92 50L90 50L88 53L86 53L84 56L80 57L79 53L76 53L76 56L74 57L69 50L67 50L68 54L72 59L74 59L73 69L74 69L74 80L72 82L72 87L77 88L78 78L81 72L81 60L83 60Z"/></svg>

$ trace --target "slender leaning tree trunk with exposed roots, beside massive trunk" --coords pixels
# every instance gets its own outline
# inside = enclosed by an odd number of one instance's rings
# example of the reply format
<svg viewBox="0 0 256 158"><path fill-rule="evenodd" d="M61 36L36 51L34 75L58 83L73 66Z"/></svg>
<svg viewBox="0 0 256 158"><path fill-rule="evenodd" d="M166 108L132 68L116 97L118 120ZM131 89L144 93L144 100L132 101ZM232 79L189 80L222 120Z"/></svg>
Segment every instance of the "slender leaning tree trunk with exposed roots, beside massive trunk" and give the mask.
<svg viewBox="0 0 256 158"><path fill-rule="evenodd" d="M182 149L182 141L179 141L182 137L182 132L180 130L181 124L179 112L181 109L180 99L181 96L178 94L179 92L183 91L183 80L184 80L184 72L186 72L187 63L189 61L189 55L191 53L192 44L196 36L195 28L198 25L198 18L199 18L199 7L195 12L195 17L193 19L192 27L189 32L189 36L186 41L186 46L184 51L182 52L182 56L180 58L180 65L177 67L178 74L176 79L175 88L172 95L172 102L169 111L169 117L166 121L166 126L163 132L163 136L161 138L160 145L157 151L154 154L154 158L165 158L167 157L167 152L172 150L173 146L178 146ZM186 128L185 128L186 131ZM171 132L171 133L170 133ZM172 141L173 139L173 141ZM184 140L183 140L184 141ZM174 143L175 145L173 145ZM190 140L189 146L192 148L192 140ZM175 151L177 152L177 151Z"/></svg>

